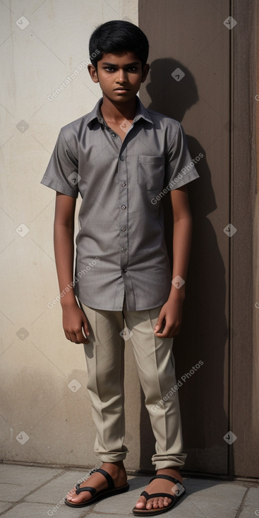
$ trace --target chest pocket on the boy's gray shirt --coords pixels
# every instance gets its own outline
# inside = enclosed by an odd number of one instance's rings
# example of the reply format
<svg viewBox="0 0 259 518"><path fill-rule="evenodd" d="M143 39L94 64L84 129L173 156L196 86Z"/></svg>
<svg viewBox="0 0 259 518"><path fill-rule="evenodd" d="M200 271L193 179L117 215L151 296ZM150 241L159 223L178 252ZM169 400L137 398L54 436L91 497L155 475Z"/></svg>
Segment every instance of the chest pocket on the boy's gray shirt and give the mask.
<svg viewBox="0 0 259 518"><path fill-rule="evenodd" d="M147 191L161 189L164 183L164 157L138 155L138 184Z"/></svg>

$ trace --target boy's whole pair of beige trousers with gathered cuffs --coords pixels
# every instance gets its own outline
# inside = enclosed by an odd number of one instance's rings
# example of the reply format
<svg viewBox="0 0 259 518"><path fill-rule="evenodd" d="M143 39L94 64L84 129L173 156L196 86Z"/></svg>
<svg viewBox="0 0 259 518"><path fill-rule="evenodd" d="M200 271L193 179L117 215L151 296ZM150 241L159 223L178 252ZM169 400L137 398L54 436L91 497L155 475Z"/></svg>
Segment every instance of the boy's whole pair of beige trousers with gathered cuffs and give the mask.
<svg viewBox="0 0 259 518"><path fill-rule="evenodd" d="M145 406L155 435L155 469L183 467L181 416L176 385L173 338L158 338L155 324L162 306L144 311L93 309L80 303L89 323L90 343L84 345L88 366L88 392L97 430L95 453L102 462L126 457L124 444L124 346L131 335ZM123 334L126 330L126 335ZM121 333L121 334L120 334ZM171 391L171 395L169 392ZM165 400L163 400L163 397Z"/></svg>

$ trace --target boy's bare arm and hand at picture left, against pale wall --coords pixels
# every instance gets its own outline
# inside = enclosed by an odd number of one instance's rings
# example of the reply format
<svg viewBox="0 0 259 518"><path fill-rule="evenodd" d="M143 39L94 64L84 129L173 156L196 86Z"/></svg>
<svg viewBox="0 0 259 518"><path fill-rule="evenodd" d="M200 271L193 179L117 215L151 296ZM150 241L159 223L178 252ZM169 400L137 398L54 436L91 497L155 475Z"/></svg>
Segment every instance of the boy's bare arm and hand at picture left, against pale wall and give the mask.
<svg viewBox="0 0 259 518"><path fill-rule="evenodd" d="M74 217L76 198L56 193L54 218L54 252L56 271L59 279L61 307L63 311L63 327L66 338L76 344L88 344L89 340L83 335L89 335L88 321L85 313L78 306L73 287L65 289L73 282L74 256Z"/></svg>

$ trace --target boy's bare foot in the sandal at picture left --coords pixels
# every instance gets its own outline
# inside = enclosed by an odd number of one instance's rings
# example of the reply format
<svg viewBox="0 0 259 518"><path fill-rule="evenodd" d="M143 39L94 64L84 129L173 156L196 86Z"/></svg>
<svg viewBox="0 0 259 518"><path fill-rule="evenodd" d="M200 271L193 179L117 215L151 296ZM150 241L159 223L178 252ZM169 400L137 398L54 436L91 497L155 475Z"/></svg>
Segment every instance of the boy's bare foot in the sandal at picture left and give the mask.
<svg viewBox="0 0 259 518"><path fill-rule="evenodd" d="M124 463L122 461L103 462L101 468L107 471L107 473L109 473L109 475L112 476L115 488L120 488L126 485L127 475L124 468ZM93 473L86 481L80 483L80 488L84 488L86 486L95 488L99 492L104 489L107 489L108 483L101 473ZM76 487L71 489L71 491L69 491L69 493L66 495L66 500L68 500L68 502L71 502L71 504L81 504L83 502L91 500L91 498L92 495L90 491L82 491L81 493L79 493L79 495L77 495Z"/></svg>

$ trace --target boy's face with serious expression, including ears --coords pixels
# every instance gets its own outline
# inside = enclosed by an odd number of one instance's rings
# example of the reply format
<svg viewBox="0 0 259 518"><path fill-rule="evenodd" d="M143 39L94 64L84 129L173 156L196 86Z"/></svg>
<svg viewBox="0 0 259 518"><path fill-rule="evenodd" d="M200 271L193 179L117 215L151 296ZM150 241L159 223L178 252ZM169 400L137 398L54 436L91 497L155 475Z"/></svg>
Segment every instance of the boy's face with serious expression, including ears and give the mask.
<svg viewBox="0 0 259 518"><path fill-rule="evenodd" d="M149 65L142 68L134 52L104 54L97 63L97 71L88 65L94 83L100 83L103 95L113 102L127 102L135 97L148 70Z"/></svg>

